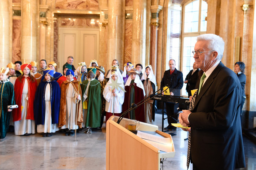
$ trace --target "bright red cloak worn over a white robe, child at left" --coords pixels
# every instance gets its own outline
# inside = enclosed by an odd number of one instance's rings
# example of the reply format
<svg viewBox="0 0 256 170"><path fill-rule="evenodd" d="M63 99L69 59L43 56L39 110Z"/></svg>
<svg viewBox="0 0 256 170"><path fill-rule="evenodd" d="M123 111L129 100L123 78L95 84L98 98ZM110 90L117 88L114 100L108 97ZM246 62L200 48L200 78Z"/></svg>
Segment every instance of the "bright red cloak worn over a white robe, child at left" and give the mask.
<svg viewBox="0 0 256 170"><path fill-rule="evenodd" d="M27 103L26 119L34 120L34 99L35 99L35 93L37 90L37 81L34 81L34 82L30 81L30 77L27 77L27 79L28 79L28 103ZM25 81L25 76L22 77L21 82L19 81L19 78L17 78L15 81L15 87L14 87L15 101L19 107L12 110L14 122L21 120L21 109L22 109L21 97L23 92L24 81Z"/></svg>

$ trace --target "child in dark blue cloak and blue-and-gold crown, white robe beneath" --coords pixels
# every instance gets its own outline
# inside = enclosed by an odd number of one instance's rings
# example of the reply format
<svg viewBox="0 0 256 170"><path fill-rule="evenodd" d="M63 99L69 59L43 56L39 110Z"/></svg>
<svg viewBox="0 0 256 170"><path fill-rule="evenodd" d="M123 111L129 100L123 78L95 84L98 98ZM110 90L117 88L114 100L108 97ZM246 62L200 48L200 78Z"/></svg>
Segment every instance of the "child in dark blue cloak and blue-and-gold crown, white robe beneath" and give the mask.
<svg viewBox="0 0 256 170"><path fill-rule="evenodd" d="M51 137L59 130L60 86L53 78L53 70L44 70L44 79L38 85L34 100L34 118L38 133Z"/></svg>

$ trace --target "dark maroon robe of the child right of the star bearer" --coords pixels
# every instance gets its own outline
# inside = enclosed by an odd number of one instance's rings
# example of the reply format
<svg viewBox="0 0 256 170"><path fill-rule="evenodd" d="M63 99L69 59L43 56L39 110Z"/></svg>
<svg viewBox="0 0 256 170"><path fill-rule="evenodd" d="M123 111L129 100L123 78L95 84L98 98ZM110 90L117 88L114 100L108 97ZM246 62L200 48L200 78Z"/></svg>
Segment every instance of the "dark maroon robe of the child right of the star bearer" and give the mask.
<svg viewBox="0 0 256 170"><path fill-rule="evenodd" d="M130 89L131 85L126 85L125 86L125 93L124 93L124 103L123 103L123 112L127 111L130 107ZM135 101L134 103L137 104L141 100L144 99L144 94L143 94L143 89L140 89L137 87L136 83L134 83L134 95L135 95ZM125 118L129 118L129 114L124 116ZM135 109L135 119L138 120L139 122L145 122L145 116L144 116L144 104L140 105Z"/></svg>

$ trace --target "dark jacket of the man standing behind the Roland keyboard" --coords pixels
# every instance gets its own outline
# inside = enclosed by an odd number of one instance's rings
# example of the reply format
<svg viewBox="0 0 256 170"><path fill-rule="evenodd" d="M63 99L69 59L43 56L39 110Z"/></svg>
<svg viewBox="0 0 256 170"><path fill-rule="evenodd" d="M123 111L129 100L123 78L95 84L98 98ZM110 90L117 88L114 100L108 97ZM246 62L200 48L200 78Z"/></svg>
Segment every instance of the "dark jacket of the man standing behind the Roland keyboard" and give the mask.
<svg viewBox="0 0 256 170"><path fill-rule="evenodd" d="M181 88L183 87L182 72L175 68L173 74L170 74L170 70L166 70L161 81L161 88L163 88L169 82L172 82L169 89L170 92L173 92L174 96L181 96Z"/></svg>

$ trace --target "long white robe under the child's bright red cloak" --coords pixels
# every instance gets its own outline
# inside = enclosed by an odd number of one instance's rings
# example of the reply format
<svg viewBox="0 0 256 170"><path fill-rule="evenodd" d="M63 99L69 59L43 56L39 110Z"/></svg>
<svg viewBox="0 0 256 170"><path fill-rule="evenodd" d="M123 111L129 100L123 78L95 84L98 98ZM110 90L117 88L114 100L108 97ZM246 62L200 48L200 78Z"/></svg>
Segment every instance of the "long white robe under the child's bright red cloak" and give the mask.
<svg viewBox="0 0 256 170"><path fill-rule="evenodd" d="M21 105L23 109L21 111L21 120L14 122L14 132L15 135L24 135L25 133L35 133L35 121L26 119L27 115L27 98L28 97L28 80L25 78L25 82L23 85L22 97L21 97Z"/></svg>

